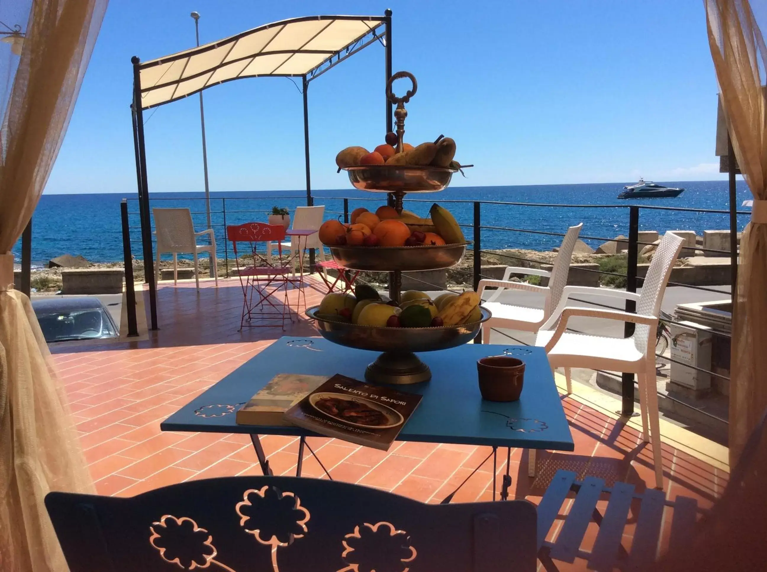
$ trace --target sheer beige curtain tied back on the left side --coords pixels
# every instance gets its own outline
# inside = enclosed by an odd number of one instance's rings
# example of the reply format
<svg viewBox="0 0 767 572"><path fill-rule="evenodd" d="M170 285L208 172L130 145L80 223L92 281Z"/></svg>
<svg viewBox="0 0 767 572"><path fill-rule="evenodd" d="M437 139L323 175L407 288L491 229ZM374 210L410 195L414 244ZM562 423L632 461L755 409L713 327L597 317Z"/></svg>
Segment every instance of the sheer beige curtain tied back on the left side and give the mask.
<svg viewBox="0 0 767 572"><path fill-rule="evenodd" d="M13 289L10 251L48 180L107 0L28 0L19 11L24 4L0 8L0 19L26 33L18 57L0 44L0 65L8 68L0 70L6 82L0 97L0 570L61 572L67 566L44 496L92 492L93 484L35 312Z"/></svg>

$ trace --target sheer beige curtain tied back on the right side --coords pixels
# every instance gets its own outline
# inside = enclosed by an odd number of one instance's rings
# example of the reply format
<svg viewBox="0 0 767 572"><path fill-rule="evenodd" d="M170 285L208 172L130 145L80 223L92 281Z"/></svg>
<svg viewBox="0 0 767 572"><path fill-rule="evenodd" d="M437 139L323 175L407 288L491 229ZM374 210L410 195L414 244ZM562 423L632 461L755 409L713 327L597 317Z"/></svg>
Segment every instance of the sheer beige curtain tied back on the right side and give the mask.
<svg viewBox="0 0 767 572"><path fill-rule="evenodd" d="M729 448L730 466L735 466L746 438L767 409L767 115L762 91L767 48L748 0L704 0L704 4L732 145L754 195L751 221L740 243L733 296Z"/></svg>

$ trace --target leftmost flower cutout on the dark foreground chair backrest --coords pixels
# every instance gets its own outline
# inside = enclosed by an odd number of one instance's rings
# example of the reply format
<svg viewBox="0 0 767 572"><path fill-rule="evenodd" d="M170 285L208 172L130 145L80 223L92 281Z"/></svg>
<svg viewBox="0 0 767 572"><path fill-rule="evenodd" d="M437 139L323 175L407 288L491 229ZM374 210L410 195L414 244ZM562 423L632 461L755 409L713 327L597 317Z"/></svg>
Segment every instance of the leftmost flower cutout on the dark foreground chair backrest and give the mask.
<svg viewBox="0 0 767 572"><path fill-rule="evenodd" d="M224 570L232 568L215 560L216 547L213 537L189 517L176 518L165 515L150 526L149 543L160 552L160 557L170 564L178 564L183 570L207 568L216 564Z"/></svg>

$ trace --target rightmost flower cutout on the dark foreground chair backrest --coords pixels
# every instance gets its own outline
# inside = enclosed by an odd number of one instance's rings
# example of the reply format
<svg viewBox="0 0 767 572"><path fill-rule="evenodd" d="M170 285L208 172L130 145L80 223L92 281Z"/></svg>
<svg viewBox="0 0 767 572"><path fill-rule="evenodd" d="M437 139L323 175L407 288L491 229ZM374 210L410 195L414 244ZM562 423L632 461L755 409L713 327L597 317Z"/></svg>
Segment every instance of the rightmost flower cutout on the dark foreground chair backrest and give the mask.
<svg viewBox="0 0 767 572"><path fill-rule="evenodd" d="M407 572L409 562L416 559L416 549L410 545L410 535L398 531L388 522L354 527L344 536L341 558L348 564L337 572Z"/></svg>

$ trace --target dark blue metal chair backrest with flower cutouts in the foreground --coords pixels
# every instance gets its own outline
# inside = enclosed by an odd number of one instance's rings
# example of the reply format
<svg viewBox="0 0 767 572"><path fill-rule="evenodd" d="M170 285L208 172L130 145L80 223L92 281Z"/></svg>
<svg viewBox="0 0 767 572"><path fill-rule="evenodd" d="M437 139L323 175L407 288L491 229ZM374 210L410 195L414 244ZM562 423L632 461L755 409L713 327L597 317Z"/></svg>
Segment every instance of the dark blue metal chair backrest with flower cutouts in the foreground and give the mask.
<svg viewBox="0 0 767 572"><path fill-rule="evenodd" d="M71 572L534 572L535 505L426 505L321 479L241 476L116 498L51 492Z"/></svg>

